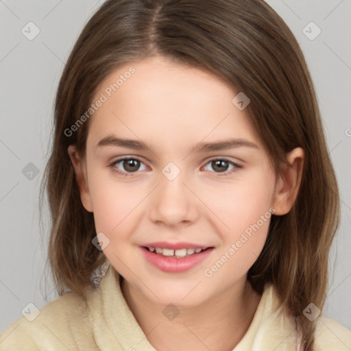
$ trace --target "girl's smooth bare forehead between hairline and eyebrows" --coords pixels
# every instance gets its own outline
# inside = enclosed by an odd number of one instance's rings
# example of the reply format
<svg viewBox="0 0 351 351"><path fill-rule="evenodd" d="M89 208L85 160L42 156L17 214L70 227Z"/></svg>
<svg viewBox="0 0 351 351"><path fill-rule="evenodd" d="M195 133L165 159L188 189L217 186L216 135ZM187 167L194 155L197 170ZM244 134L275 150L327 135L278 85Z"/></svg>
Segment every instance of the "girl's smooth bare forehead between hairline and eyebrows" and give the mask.
<svg viewBox="0 0 351 351"><path fill-rule="evenodd" d="M160 57L129 62L96 90L104 103L90 119L88 139L110 134L181 147L204 138L246 138L259 143L237 95L215 75ZM173 144L171 143L173 140Z"/></svg>

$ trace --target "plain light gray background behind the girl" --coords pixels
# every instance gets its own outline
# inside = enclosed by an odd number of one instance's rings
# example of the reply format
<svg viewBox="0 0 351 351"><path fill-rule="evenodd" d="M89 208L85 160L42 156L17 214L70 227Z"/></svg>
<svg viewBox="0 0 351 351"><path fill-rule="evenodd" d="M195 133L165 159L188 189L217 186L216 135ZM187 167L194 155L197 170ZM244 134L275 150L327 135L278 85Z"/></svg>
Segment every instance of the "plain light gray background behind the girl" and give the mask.
<svg viewBox="0 0 351 351"><path fill-rule="evenodd" d="M351 0L267 2L298 39L317 88L342 210L330 254L325 314L351 328ZM75 39L100 3L0 0L0 332L21 317L29 302L40 308L58 297L44 271L49 217L46 211L41 236L38 191L58 80ZM29 21L40 29L34 40L21 32ZM311 21L322 29L314 40L304 34L317 34L313 25L306 27Z"/></svg>

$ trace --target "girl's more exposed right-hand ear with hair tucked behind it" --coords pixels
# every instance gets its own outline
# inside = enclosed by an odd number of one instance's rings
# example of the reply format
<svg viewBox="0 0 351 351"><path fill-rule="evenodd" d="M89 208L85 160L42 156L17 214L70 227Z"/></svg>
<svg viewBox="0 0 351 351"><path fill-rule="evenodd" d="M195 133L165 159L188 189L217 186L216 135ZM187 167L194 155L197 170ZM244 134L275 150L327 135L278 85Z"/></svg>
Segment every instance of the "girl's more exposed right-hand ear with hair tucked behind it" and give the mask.
<svg viewBox="0 0 351 351"><path fill-rule="evenodd" d="M287 161L289 166L282 166L281 175L276 182L272 205L276 209L274 215L287 214L298 196L304 166L304 150L296 147L287 154Z"/></svg>

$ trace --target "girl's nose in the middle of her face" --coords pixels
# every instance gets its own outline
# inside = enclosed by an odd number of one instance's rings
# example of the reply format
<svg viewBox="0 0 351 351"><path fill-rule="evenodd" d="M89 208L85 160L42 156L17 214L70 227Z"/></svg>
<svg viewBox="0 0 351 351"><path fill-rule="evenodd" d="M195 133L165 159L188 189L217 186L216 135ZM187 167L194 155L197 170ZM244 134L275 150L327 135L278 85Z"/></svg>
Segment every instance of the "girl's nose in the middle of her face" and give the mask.
<svg viewBox="0 0 351 351"><path fill-rule="evenodd" d="M165 174L160 174L159 185L152 194L150 219L169 227L193 223L199 215L201 202L191 190L189 178L186 179L185 172L182 171L174 179L167 178L167 173Z"/></svg>

